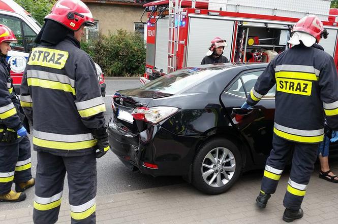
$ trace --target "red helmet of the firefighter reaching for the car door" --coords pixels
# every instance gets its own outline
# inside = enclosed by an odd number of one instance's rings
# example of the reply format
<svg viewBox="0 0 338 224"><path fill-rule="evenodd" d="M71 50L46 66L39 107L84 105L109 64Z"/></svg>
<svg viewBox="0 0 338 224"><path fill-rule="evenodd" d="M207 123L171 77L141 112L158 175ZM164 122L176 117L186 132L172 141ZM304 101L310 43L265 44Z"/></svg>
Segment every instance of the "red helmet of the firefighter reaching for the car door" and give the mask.
<svg viewBox="0 0 338 224"><path fill-rule="evenodd" d="M308 15L301 18L296 25L293 26L292 33L296 31L312 35L316 39L316 43L319 43L323 37L324 26L317 16Z"/></svg>

